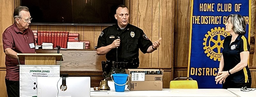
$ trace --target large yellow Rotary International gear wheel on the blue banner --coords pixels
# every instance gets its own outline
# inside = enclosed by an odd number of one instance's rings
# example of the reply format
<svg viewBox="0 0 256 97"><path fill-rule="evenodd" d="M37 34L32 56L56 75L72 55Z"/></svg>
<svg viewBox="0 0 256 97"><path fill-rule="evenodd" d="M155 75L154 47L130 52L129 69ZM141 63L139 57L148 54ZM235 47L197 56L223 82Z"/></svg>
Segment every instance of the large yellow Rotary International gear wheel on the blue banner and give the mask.
<svg viewBox="0 0 256 97"><path fill-rule="evenodd" d="M204 53L207 54L206 56L210 56L210 59L213 59L216 61L220 61L220 58L222 56L221 49L223 49L223 42L224 38L228 35L224 28L220 27L214 27L214 29L211 29L211 31L207 32L208 34L205 34L204 36Z"/></svg>

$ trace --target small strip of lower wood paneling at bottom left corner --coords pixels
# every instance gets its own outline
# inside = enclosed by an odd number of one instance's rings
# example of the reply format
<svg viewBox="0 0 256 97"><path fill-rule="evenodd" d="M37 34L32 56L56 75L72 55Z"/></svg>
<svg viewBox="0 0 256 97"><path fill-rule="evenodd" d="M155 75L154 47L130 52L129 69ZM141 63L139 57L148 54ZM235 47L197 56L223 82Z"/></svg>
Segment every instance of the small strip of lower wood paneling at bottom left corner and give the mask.
<svg viewBox="0 0 256 97"><path fill-rule="evenodd" d="M7 97L6 86L5 86L5 71L0 70L0 96Z"/></svg>

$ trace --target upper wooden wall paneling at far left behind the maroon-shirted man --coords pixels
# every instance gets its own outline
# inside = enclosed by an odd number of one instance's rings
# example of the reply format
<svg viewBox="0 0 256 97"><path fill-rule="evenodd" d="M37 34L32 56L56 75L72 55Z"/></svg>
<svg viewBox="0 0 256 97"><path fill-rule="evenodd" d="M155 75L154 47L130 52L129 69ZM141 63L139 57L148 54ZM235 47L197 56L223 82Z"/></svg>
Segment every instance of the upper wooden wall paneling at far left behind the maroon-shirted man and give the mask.
<svg viewBox="0 0 256 97"><path fill-rule="evenodd" d="M14 23L14 7L14 0L0 0L0 67L5 67L5 54L3 49L2 35L4 30Z"/></svg>

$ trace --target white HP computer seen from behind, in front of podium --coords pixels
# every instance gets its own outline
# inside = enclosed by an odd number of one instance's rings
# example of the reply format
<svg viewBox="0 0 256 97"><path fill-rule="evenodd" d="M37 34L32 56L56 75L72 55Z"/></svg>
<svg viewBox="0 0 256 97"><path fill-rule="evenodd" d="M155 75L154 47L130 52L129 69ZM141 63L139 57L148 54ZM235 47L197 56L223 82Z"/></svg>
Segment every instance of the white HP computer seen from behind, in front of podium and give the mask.
<svg viewBox="0 0 256 97"><path fill-rule="evenodd" d="M37 77L37 97L90 97L90 77Z"/></svg>

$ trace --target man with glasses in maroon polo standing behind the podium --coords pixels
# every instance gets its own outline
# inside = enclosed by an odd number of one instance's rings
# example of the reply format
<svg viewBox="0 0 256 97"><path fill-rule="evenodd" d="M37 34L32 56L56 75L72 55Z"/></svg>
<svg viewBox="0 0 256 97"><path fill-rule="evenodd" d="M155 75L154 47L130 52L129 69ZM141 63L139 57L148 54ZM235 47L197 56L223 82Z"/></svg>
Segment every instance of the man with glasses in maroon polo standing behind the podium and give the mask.
<svg viewBox="0 0 256 97"><path fill-rule="evenodd" d="M20 68L17 53L35 53L35 36L29 29L32 19L28 7L18 6L13 12L14 24L3 33L3 47L5 53L6 76L5 85L8 97L20 96Z"/></svg>

